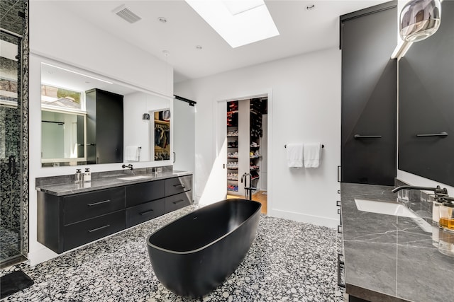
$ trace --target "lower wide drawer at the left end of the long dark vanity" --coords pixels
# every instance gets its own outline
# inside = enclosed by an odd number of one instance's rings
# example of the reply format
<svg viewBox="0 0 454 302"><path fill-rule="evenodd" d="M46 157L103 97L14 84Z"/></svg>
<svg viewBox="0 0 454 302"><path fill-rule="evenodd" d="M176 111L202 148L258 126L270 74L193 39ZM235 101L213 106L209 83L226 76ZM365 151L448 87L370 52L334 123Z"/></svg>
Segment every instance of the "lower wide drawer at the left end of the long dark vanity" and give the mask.
<svg viewBox="0 0 454 302"><path fill-rule="evenodd" d="M64 227L63 249L70 250L79 245L109 236L125 228L125 211L96 217Z"/></svg>

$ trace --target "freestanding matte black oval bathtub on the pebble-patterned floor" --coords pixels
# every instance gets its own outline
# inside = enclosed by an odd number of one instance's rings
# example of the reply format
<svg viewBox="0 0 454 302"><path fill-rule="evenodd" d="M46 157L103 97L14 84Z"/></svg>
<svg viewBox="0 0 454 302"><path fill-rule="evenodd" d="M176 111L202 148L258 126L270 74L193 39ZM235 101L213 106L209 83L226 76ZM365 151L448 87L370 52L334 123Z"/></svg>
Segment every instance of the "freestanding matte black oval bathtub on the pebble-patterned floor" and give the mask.
<svg viewBox="0 0 454 302"><path fill-rule="evenodd" d="M179 296L216 289L240 265L253 243L259 202L226 199L172 221L148 237L157 279Z"/></svg>

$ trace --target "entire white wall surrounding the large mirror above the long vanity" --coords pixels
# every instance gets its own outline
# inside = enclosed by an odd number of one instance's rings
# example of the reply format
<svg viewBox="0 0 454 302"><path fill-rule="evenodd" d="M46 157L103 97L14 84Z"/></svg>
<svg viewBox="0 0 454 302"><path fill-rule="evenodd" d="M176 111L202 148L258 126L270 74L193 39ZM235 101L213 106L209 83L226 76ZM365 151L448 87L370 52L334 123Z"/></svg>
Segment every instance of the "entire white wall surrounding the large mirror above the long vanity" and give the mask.
<svg viewBox="0 0 454 302"><path fill-rule="evenodd" d="M31 1L30 3L30 83L29 83L29 145L30 145L30 207L28 258L31 265L55 257L57 254L36 240L35 178L67 175L75 172L70 166L41 168L41 112L40 112L40 63L46 58L87 70L84 74L101 75L138 91L155 93L160 98L172 100L173 70L153 55L96 28L87 21L62 11L64 1ZM74 42L78 41L78 42ZM172 102L170 102L172 108ZM140 118L140 122L141 118ZM172 118L171 118L172 122ZM172 146L172 145L171 145ZM172 165L172 161L140 162L135 168L153 165ZM121 170L121 163L89 165L92 172Z"/></svg>

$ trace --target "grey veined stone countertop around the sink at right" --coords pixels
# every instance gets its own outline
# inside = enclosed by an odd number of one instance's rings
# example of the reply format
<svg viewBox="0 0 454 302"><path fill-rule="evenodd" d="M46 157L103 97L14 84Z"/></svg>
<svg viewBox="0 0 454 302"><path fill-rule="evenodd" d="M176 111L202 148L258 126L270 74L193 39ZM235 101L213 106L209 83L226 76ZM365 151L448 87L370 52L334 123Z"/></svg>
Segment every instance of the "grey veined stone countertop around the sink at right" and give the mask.
<svg viewBox="0 0 454 302"><path fill-rule="evenodd" d="M433 245L436 236L454 243L453 232L431 226L428 233L414 219L357 209L355 198L396 202L392 188L341 184L347 294L368 301L453 301L454 257Z"/></svg>

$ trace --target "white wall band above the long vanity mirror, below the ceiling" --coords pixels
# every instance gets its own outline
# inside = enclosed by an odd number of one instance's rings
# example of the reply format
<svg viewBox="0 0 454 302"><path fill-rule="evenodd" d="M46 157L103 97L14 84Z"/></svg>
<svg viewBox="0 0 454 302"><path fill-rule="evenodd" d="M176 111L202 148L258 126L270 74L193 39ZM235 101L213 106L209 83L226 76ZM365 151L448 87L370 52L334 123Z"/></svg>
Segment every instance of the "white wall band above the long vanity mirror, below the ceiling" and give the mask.
<svg viewBox="0 0 454 302"><path fill-rule="evenodd" d="M30 51L133 86L173 95L166 62L65 10L65 1L30 2Z"/></svg>

